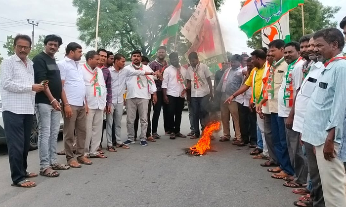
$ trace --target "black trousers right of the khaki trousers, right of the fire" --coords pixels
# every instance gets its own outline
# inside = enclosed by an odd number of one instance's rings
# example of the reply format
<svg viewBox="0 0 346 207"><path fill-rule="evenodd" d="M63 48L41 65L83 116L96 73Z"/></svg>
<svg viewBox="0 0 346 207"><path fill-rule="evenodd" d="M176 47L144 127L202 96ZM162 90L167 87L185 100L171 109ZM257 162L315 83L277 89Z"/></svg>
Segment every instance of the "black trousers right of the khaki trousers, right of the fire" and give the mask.
<svg viewBox="0 0 346 207"><path fill-rule="evenodd" d="M238 103L240 134L245 143L257 143L257 115L248 106Z"/></svg>

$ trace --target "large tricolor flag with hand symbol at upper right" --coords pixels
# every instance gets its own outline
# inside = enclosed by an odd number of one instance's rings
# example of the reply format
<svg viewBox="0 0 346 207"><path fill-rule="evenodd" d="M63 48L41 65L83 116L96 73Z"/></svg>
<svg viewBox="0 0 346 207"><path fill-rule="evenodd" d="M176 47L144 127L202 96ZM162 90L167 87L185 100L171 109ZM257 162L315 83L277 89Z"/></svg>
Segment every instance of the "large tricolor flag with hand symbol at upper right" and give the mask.
<svg viewBox="0 0 346 207"><path fill-rule="evenodd" d="M304 0L246 0L238 14L239 27L251 38L303 3Z"/></svg>

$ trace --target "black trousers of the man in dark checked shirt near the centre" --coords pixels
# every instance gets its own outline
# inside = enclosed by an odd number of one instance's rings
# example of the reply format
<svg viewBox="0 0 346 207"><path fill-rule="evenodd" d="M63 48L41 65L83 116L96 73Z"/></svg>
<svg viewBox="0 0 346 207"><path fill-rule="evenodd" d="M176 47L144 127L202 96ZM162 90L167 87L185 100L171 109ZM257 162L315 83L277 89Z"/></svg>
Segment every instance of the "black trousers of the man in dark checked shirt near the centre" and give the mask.
<svg viewBox="0 0 346 207"><path fill-rule="evenodd" d="M164 97L162 94L162 91L157 91L157 103L153 106L153 134L157 133L157 127L159 124L159 118L161 113L161 108L164 112L164 128L165 132L168 132L168 125L167 125L167 104L164 103Z"/></svg>

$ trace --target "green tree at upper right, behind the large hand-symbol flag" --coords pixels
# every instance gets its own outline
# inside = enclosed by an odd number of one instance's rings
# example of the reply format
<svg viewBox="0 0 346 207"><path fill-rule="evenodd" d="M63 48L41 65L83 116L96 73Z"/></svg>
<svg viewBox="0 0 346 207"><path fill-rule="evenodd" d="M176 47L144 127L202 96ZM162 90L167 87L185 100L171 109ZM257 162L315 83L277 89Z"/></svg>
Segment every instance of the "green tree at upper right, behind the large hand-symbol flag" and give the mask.
<svg viewBox="0 0 346 207"><path fill-rule="evenodd" d="M245 1L241 1L241 6ZM334 15L339 12L340 6L324 6L319 0L304 1L304 32L311 34L326 27L336 27ZM300 7L290 11L290 34L292 41L299 41L303 36L302 10ZM247 41L250 48L262 47L260 31Z"/></svg>

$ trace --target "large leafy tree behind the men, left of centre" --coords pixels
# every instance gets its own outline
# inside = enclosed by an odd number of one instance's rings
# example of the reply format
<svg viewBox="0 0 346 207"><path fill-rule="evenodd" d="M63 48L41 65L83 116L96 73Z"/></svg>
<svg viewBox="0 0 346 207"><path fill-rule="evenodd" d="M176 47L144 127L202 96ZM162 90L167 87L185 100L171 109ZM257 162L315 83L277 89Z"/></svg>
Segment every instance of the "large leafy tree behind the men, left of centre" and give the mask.
<svg viewBox="0 0 346 207"><path fill-rule="evenodd" d="M108 50L116 50L126 57L130 52L140 50L148 56L153 49L161 31L167 26L173 8L178 0L102 0L99 15L98 45ZM180 28L191 17L199 0L183 1ZM219 9L224 0L215 0ZM73 0L79 18L77 27L79 38L93 46L95 40L95 24L97 1ZM151 5L150 8L147 8ZM147 8L147 9L145 9ZM173 49L175 38L170 38L168 49ZM177 35L178 51L187 51L188 42L181 34Z"/></svg>

